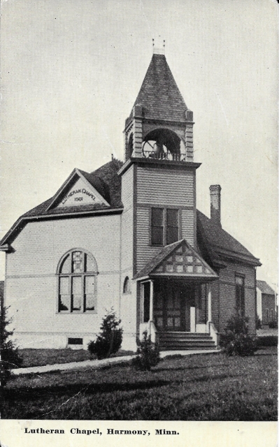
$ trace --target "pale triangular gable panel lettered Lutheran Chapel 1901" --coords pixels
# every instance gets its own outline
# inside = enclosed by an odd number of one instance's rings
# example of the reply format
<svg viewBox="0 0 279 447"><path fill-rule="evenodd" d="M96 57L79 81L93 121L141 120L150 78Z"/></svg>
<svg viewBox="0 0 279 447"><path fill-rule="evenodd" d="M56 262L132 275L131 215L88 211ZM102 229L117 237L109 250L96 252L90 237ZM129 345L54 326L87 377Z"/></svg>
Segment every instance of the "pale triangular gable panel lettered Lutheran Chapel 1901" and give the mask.
<svg viewBox="0 0 279 447"><path fill-rule="evenodd" d="M62 196L57 208L76 207L80 205L94 205L95 203L106 203L101 194L99 194L93 186L82 178L71 187L70 191Z"/></svg>

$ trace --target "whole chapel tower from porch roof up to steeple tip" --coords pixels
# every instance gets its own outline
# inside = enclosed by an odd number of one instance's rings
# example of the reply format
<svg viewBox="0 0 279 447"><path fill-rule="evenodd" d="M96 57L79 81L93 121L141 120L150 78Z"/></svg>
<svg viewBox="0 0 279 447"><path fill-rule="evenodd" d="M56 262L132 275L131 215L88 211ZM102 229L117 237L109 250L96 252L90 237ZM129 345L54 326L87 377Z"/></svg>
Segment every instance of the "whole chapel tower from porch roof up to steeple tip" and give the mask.
<svg viewBox="0 0 279 447"><path fill-rule="evenodd" d="M125 122L122 268L134 277L162 249L185 239L196 248L193 112L164 50L155 49ZM127 274L127 273L125 273Z"/></svg>

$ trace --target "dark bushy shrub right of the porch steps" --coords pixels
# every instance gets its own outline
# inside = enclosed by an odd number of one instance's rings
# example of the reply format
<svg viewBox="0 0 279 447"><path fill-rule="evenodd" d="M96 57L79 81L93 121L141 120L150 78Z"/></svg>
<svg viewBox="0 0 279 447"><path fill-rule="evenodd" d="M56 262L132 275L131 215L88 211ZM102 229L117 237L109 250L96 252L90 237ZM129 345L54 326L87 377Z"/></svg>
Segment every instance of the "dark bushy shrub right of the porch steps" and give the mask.
<svg viewBox="0 0 279 447"><path fill-rule="evenodd" d="M231 316L220 335L220 346L227 356L253 356L257 351L257 342L248 334L247 316Z"/></svg>

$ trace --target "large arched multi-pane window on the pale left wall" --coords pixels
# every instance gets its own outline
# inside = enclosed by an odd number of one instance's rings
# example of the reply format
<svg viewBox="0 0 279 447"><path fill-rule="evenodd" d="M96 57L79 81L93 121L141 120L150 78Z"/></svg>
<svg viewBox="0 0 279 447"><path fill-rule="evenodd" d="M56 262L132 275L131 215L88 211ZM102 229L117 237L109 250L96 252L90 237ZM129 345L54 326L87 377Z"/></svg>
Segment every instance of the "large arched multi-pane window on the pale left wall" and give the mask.
<svg viewBox="0 0 279 447"><path fill-rule="evenodd" d="M96 312L96 275L94 256L81 249L68 251L57 268L58 312Z"/></svg>

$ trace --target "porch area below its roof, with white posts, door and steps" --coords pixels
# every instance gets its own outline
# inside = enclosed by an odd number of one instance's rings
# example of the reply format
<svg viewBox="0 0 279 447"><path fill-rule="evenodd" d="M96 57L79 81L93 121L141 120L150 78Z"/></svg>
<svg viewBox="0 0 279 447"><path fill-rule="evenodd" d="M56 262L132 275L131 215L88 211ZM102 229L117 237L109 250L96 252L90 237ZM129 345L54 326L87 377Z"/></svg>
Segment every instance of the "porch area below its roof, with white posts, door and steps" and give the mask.
<svg viewBox="0 0 279 447"><path fill-rule="evenodd" d="M140 335L147 330L162 351L216 348L210 283L148 279L140 287Z"/></svg>

